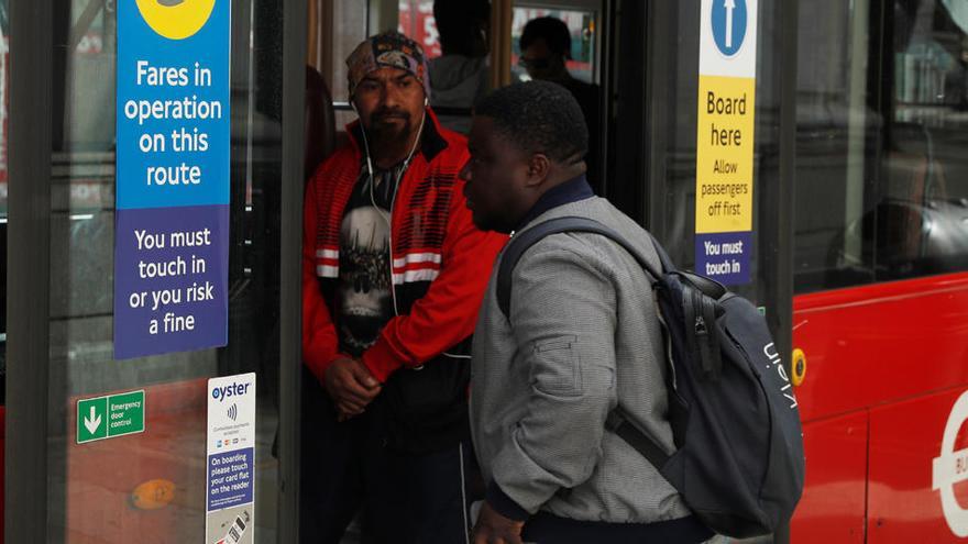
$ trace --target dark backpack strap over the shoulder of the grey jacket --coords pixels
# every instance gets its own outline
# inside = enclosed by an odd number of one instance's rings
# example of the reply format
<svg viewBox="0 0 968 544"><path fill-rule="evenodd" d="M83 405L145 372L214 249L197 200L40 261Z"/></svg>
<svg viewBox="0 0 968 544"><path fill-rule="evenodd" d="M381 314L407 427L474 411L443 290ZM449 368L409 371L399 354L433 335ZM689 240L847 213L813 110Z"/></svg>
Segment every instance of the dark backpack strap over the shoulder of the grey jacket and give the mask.
<svg viewBox="0 0 968 544"><path fill-rule="evenodd" d="M505 318L510 318L510 275L514 271L515 266L517 266L518 260L520 260L521 255L544 236L562 232L591 232L594 234L601 234L625 248L626 252L635 257L639 266L641 266L653 278L661 277L659 270L656 270L649 262L639 255L639 252L636 251L636 248L632 247L622 234L618 234L598 221L573 215L550 219L513 236L504 251L504 255L501 257L501 266L497 269L497 306L501 308L501 313L503 313ZM649 234L649 237L652 241L652 245L656 246L656 251L659 253L662 268L667 273L675 270L675 266L672 264L669 255L666 254L666 251L656 242L656 238L651 237L651 234Z"/></svg>

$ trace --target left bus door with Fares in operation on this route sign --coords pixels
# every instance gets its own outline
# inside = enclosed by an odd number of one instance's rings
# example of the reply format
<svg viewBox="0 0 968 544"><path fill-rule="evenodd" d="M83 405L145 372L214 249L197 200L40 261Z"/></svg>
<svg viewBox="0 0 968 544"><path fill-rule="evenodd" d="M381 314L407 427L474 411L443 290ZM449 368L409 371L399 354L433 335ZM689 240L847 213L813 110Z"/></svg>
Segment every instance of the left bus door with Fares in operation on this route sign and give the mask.
<svg viewBox="0 0 968 544"><path fill-rule="evenodd" d="M0 2L7 542L295 542L305 11Z"/></svg>

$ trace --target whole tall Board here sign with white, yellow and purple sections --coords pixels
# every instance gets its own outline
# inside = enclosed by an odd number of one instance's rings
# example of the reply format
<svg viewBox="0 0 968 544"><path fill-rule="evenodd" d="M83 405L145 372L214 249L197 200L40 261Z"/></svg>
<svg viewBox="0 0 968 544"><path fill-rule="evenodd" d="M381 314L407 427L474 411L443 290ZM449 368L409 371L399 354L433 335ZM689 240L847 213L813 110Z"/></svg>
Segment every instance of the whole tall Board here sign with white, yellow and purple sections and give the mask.
<svg viewBox="0 0 968 544"><path fill-rule="evenodd" d="M751 280L758 0L702 0L695 269Z"/></svg>

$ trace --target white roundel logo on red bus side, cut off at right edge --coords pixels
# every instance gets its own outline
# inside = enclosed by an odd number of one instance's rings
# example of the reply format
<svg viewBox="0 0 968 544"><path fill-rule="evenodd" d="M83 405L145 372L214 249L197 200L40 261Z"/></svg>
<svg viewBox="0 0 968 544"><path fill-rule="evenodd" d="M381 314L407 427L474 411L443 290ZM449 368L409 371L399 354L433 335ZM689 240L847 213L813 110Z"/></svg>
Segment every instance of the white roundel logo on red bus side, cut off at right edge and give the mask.
<svg viewBox="0 0 968 544"><path fill-rule="evenodd" d="M968 420L968 391L961 393L948 422L945 424L945 434L942 437L942 453L935 457L932 464L931 488L941 491L942 511L948 528L956 536L968 536L968 510L961 508L955 497L955 484L968 480L968 449L955 451L955 442L958 431Z"/></svg>

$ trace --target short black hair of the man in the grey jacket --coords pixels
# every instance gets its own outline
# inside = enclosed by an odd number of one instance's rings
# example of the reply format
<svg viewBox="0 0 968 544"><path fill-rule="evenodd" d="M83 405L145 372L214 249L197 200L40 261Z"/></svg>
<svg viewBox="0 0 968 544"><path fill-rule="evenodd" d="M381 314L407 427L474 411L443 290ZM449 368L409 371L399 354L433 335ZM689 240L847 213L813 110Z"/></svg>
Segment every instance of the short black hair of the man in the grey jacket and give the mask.
<svg viewBox="0 0 968 544"><path fill-rule="evenodd" d="M527 153L543 153L556 163L574 164L588 152L588 127L578 101L564 87L527 81L502 87L482 98L475 115Z"/></svg>

